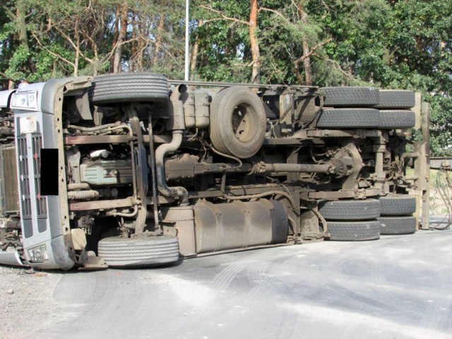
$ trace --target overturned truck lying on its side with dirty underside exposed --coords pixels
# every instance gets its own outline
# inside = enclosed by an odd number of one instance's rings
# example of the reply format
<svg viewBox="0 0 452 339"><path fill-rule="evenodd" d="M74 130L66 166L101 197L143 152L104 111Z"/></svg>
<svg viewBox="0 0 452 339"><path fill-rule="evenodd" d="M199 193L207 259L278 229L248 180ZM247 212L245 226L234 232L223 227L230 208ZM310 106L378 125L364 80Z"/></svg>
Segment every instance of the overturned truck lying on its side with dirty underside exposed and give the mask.
<svg viewBox="0 0 452 339"><path fill-rule="evenodd" d="M153 266L415 232L415 98L154 73L0 92L0 263Z"/></svg>

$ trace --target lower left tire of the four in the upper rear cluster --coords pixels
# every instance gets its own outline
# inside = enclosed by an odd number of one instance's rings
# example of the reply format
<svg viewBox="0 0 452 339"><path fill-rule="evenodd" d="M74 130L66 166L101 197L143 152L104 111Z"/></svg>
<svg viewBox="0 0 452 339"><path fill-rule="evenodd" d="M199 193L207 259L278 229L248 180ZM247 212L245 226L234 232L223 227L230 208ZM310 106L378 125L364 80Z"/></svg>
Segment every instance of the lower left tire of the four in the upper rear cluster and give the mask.
<svg viewBox="0 0 452 339"><path fill-rule="evenodd" d="M322 109L317 127L321 129L374 129L380 125L380 112L372 108Z"/></svg>

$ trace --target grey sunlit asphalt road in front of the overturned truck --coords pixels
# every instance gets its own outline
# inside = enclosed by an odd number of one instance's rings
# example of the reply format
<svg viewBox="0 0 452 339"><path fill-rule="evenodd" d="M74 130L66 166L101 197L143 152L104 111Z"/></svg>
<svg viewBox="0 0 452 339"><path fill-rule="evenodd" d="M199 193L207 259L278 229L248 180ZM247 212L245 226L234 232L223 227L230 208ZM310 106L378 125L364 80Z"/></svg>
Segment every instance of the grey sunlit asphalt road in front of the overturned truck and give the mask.
<svg viewBox="0 0 452 339"><path fill-rule="evenodd" d="M24 337L452 338L451 254L420 231L64 273Z"/></svg>

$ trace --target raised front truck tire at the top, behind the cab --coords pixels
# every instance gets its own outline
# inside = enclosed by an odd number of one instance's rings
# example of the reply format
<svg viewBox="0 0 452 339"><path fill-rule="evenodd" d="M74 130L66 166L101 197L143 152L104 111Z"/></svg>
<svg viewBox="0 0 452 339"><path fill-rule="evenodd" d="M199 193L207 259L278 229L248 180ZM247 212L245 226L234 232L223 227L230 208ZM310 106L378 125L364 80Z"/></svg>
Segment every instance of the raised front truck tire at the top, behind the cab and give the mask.
<svg viewBox="0 0 452 339"><path fill-rule="evenodd" d="M155 73L114 73L95 76L90 88L94 105L117 102L166 102L168 81Z"/></svg>

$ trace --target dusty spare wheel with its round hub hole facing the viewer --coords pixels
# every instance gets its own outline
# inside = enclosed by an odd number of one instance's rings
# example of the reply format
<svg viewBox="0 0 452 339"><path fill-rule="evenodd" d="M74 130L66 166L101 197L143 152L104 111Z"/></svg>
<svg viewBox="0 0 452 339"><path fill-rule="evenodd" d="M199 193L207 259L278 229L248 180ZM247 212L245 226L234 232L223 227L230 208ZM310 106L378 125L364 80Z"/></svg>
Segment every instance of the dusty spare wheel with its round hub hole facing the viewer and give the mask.
<svg viewBox="0 0 452 339"><path fill-rule="evenodd" d="M261 148L265 133L266 112L251 90L234 86L213 97L210 140L217 150L246 159Z"/></svg>

